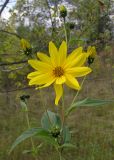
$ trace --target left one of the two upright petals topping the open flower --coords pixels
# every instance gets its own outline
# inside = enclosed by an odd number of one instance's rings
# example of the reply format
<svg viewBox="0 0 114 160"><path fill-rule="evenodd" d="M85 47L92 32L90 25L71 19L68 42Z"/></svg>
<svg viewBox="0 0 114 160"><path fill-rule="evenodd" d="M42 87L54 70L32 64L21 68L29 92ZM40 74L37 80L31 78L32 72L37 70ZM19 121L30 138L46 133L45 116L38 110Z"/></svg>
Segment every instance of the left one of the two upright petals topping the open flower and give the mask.
<svg viewBox="0 0 114 160"><path fill-rule="evenodd" d="M49 54L52 64L54 66L58 65L59 63L58 50L52 41L49 42Z"/></svg>

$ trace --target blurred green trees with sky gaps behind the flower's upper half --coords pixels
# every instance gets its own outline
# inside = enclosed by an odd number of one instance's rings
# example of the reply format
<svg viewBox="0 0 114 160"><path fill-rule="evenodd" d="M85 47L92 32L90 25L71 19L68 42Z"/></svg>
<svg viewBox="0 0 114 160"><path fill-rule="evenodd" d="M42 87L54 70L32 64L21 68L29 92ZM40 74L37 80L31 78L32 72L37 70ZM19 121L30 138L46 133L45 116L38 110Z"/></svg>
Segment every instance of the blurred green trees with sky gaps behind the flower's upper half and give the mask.
<svg viewBox="0 0 114 160"><path fill-rule="evenodd" d="M36 58L38 51L48 53L48 43L53 40L57 46L65 39L63 20L59 19L61 1L44 0L30 2L16 1L10 10L8 21L0 19L0 86L8 91L10 87L26 86L26 75L30 68L27 63L21 63L30 58ZM109 18L111 2L72 0L68 2L66 28L69 52L77 46L95 45L97 50L109 51L112 39L112 23ZM24 54L20 39L25 38L31 43L32 54ZM99 62L98 62L99 63ZM97 64L96 66L99 66Z"/></svg>

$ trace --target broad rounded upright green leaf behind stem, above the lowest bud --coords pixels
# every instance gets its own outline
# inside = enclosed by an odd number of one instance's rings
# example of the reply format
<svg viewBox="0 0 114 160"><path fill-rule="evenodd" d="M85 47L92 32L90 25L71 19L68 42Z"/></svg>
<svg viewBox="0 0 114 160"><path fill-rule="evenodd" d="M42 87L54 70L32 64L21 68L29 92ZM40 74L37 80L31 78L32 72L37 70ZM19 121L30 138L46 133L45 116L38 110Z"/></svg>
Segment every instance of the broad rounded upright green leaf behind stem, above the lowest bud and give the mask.
<svg viewBox="0 0 114 160"><path fill-rule="evenodd" d="M54 112L47 111L42 116L41 125L42 125L42 128L49 131L54 126L61 127L61 120L60 120L60 117Z"/></svg>

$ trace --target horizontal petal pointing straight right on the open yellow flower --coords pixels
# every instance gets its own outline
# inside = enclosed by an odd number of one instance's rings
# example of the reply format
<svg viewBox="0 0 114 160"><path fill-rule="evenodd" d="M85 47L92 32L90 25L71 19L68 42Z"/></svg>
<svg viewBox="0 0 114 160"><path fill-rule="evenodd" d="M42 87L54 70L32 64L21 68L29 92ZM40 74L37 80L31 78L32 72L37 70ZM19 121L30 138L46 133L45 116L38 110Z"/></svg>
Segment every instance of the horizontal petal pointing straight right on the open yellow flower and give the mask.
<svg viewBox="0 0 114 160"><path fill-rule="evenodd" d="M89 74L91 71L92 70L89 67L73 67L67 69L66 72L74 77L82 77Z"/></svg>

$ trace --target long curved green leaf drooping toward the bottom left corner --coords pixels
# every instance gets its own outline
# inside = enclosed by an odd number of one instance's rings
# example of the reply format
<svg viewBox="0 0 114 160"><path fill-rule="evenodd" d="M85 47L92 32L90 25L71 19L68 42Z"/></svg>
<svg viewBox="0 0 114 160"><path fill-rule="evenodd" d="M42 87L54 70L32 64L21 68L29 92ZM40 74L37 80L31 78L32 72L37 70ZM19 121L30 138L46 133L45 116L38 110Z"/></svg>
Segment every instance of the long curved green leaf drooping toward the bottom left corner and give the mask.
<svg viewBox="0 0 114 160"><path fill-rule="evenodd" d="M23 133L15 140L15 142L12 144L9 153L11 153L18 144L20 144L21 142L23 142L24 140L26 140L26 139L28 139L28 138L30 138L30 137L32 137L32 136L35 136L35 135L41 133L42 130L43 130L42 128L31 128L31 129L23 132Z"/></svg>

